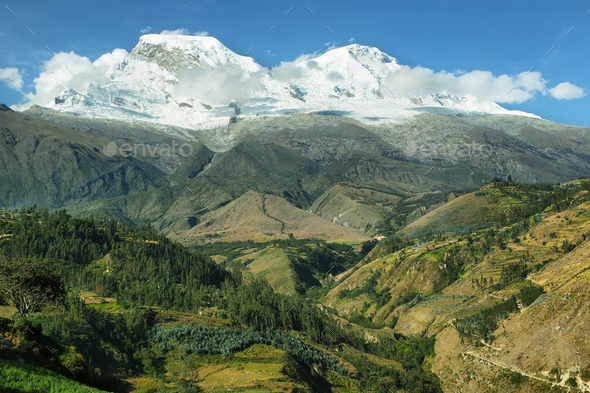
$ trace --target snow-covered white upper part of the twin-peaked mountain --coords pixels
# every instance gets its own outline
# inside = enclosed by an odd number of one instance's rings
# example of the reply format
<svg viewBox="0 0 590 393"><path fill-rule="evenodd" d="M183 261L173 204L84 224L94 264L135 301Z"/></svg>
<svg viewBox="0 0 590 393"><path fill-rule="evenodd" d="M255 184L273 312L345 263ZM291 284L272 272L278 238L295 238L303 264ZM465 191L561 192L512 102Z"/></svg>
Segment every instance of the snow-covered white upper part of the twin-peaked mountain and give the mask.
<svg viewBox="0 0 590 393"><path fill-rule="evenodd" d="M469 96L396 96L386 78L401 68L379 49L353 44L269 70L213 37L151 34L103 80L85 91L65 89L47 107L193 129L225 125L237 115L289 112L334 111L373 124L405 122L421 112L534 116Z"/></svg>

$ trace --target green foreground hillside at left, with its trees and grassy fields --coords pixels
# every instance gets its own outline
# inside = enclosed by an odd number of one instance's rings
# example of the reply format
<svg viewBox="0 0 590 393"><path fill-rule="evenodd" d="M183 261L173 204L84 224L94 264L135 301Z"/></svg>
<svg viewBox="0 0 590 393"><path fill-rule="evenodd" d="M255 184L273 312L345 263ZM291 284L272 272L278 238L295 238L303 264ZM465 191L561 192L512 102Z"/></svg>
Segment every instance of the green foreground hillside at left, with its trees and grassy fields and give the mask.
<svg viewBox="0 0 590 393"><path fill-rule="evenodd" d="M278 293L237 264L229 272L150 227L35 208L4 212L0 223L3 356L72 369L72 378L117 392L408 390L418 380L420 391L440 392L428 371L433 340L383 332L379 345L367 342L317 302ZM308 278L358 261L342 247L300 246L291 263L297 270L307 261L299 273ZM53 273L42 274L49 267ZM38 297L47 280L61 278L68 292L44 295L32 310L40 313L25 318L15 299Z"/></svg>

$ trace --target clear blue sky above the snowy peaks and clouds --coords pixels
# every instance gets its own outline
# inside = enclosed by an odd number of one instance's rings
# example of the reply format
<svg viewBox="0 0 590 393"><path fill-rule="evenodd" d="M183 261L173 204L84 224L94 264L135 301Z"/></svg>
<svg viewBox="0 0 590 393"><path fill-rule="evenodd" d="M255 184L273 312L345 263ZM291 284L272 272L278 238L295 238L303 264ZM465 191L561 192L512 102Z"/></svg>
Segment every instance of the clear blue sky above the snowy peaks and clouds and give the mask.
<svg viewBox="0 0 590 393"><path fill-rule="evenodd" d="M22 103L35 92L53 56L46 46L94 61L115 48L130 51L142 30L183 28L238 54L254 46L248 55L269 68L349 41L434 72L517 76L534 66L545 90L501 105L590 127L589 10L588 1L8 1L0 9L0 101ZM584 91L562 86L557 99L550 89L564 82Z"/></svg>

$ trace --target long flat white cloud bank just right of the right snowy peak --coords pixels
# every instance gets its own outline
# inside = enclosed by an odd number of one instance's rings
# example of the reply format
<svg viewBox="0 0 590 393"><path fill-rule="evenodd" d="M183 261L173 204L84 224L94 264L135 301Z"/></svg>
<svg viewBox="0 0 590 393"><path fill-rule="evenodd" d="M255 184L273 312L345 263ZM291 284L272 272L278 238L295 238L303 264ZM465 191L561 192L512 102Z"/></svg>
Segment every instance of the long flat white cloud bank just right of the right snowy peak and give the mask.
<svg viewBox="0 0 590 393"><path fill-rule="evenodd" d="M545 91L547 81L539 72L494 76L489 71L480 70L452 73L402 66L385 78L385 84L400 96L469 95L482 102L521 103L533 98L537 92Z"/></svg>

